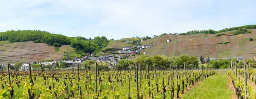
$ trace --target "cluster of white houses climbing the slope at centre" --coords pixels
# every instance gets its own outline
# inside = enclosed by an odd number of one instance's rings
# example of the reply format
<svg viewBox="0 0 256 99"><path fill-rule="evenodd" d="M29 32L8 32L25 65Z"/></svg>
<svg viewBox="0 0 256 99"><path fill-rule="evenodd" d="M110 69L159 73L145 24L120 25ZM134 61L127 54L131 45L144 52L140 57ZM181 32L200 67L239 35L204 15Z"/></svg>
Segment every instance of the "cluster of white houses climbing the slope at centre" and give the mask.
<svg viewBox="0 0 256 99"><path fill-rule="evenodd" d="M148 49L150 47L153 47L155 44L148 44L148 45L134 45L134 47L123 47L122 50L118 50L119 54L131 54L135 55L136 53L139 53L141 50ZM137 49L137 50L132 50ZM146 54L144 52L144 54Z"/></svg>

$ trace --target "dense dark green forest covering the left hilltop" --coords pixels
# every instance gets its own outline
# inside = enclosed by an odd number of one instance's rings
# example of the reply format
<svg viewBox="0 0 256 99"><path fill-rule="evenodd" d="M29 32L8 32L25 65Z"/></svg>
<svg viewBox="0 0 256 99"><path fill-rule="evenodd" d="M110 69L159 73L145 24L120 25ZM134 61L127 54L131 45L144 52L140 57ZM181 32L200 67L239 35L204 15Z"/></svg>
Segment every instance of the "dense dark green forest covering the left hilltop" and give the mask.
<svg viewBox="0 0 256 99"><path fill-rule="evenodd" d="M91 38L87 39L80 36L67 37L40 30L10 30L0 32L0 41L9 41L10 43L33 41L35 43L45 43L49 46L66 44L73 47L74 50L81 55L86 55L86 53L100 52L101 49L106 47L109 42L105 36L97 36L92 40Z"/></svg>

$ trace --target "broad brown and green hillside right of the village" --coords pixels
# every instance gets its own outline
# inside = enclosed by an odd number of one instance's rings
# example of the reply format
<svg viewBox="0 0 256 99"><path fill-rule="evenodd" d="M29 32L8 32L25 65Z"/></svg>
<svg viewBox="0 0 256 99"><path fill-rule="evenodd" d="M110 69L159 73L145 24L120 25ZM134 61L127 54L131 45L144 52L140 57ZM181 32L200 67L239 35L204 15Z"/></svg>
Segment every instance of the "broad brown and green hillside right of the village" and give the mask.
<svg viewBox="0 0 256 99"><path fill-rule="evenodd" d="M236 30L222 32L224 34L234 33ZM148 39L143 44L157 44L154 47L145 49L147 55L166 55L179 56L182 54L230 58L233 56L252 57L256 53L256 30L251 29L251 33L239 34L234 36L216 36L217 34L192 34L192 35L165 35ZM167 39L172 42L166 43ZM253 38L254 41L249 41ZM221 42L230 42L227 44L218 44ZM141 53L142 53L141 52Z"/></svg>

